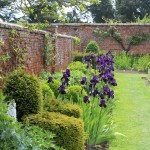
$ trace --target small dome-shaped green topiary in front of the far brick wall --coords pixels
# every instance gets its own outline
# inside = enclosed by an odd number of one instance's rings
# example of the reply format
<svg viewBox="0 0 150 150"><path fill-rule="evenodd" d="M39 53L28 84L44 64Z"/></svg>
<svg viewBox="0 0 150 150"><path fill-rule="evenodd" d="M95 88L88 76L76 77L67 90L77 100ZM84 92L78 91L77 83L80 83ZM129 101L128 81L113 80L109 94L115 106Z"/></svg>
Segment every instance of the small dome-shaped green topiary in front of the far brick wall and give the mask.
<svg viewBox="0 0 150 150"><path fill-rule="evenodd" d="M92 53L99 53L99 46L96 41L90 41L85 49L86 53L92 52Z"/></svg>

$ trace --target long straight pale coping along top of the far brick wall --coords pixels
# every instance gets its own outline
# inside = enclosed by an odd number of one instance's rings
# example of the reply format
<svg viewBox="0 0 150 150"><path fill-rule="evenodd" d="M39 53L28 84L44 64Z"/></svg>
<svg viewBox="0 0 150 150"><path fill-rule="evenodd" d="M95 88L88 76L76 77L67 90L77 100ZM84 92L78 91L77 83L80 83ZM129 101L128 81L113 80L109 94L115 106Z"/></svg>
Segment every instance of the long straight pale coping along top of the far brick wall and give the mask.
<svg viewBox="0 0 150 150"><path fill-rule="evenodd" d="M50 27L57 26L150 26L150 23L51 23Z"/></svg>

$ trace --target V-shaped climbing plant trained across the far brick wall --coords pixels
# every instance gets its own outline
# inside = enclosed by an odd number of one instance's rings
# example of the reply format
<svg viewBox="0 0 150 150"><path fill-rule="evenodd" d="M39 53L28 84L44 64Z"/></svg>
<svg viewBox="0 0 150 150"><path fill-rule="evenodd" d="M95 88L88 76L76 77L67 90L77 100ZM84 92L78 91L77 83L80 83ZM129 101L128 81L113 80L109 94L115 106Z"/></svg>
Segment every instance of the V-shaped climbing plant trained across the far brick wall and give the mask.
<svg viewBox="0 0 150 150"><path fill-rule="evenodd" d="M126 48L123 43L123 37L119 33L118 29L114 26L110 26L106 31L100 31L99 28L96 28L93 31L93 34L102 39L112 37L121 45L122 49L126 52L126 54L130 51L132 45L140 45L141 42L150 40L150 33L144 33L142 30L139 29L135 35L128 37L129 44Z"/></svg>

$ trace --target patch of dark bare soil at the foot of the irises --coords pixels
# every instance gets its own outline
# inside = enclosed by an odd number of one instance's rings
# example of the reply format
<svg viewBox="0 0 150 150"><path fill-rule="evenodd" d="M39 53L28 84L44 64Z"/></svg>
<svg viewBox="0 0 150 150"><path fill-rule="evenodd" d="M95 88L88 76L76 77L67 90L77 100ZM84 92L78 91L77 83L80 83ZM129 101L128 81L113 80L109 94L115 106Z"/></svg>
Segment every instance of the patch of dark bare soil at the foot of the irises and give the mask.
<svg viewBox="0 0 150 150"><path fill-rule="evenodd" d="M104 142L101 145L97 145L95 147L86 146L85 150L108 150L108 148L109 148L108 142Z"/></svg>

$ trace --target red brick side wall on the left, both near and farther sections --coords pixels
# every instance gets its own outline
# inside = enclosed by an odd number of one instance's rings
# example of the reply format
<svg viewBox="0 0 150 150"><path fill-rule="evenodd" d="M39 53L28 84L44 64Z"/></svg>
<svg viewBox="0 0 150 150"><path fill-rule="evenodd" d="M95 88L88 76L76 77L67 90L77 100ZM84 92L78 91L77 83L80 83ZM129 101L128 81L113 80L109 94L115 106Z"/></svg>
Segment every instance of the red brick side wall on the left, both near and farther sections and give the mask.
<svg viewBox="0 0 150 150"><path fill-rule="evenodd" d="M17 32L16 35L13 33L14 31ZM0 22L0 78L16 67L16 60L20 56L19 59L25 57L26 71L38 75L45 68L45 34L46 31L30 31L22 26ZM55 71L65 69L71 61L71 51L74 50L74 37L61 34L55 34L54 37L55 65L50 64L48 71L52 68ZM25 51L25 56L19 53L20 50ZM1 82L0 79L0 85Z"/></svg>

